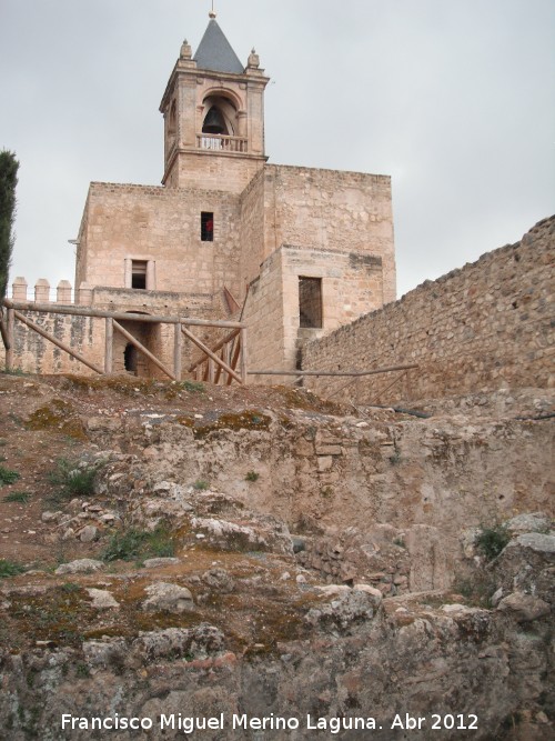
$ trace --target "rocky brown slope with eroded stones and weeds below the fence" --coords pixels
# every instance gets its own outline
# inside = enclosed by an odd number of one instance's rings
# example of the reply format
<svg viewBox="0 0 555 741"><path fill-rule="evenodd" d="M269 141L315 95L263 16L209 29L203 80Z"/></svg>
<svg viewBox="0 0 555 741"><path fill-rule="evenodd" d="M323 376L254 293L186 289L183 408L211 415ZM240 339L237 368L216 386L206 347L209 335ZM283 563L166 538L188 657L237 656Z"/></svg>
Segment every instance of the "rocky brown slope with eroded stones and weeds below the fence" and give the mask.
<svg viewBox="0 0 555 741"><path fill-rule="evenodd" d="M553 738L553 397L0 374L6 738Z"/></svg>

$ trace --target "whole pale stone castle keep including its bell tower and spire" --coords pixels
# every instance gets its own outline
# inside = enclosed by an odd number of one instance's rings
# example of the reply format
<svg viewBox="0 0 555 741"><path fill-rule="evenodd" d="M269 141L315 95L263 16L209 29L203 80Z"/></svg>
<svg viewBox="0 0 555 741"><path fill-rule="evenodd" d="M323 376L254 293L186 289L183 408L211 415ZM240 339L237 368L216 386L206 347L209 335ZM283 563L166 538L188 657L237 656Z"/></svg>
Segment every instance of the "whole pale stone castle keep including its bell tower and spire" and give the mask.
<svg viewBox="0 0 555 741"><path fill-rule="evenodd" d="M268 82L213 13L194 56L183 43L160 106L163 184L90 186L80 303L241 317L250 369L294 369L306 339L395 299L390 178L268 164ZM153 352L172 342L157 327L128 329ZM130 370L124 340L114 342L114 370Z"/></svg>

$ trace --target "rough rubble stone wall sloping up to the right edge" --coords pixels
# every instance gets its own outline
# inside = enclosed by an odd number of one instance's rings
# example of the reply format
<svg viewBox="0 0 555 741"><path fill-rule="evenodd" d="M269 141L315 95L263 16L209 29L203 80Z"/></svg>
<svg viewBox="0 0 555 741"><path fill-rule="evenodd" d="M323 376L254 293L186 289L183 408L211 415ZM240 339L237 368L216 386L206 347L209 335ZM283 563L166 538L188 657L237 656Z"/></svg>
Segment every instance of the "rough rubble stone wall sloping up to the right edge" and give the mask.
<svg viewBox="0 0 555 741"><path fill-rule="evenodd" d="M521 242L484 254L303 350L305 370L420 364L384 400L423 399L497 389L552 387L555 218ZM339 394L370 401L393 377L357 382ZM310 381L332 393L344 380Z"/></svg>

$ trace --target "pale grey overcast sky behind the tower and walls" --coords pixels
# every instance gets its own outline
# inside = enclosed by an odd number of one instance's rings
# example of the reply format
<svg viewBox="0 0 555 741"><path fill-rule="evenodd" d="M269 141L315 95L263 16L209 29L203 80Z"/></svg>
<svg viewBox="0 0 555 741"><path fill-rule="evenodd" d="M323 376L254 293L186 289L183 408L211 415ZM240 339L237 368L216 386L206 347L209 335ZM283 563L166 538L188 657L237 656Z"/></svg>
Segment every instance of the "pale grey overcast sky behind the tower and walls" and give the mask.
<svg viewBox="0 0 555 741"><path fill-rule="evenodd" d="M0 0L11 280L73 283L91 180L159 184L159 104L211 0ZM397 296L555 211L553 0L215 0L266 88L270 162L391 174Z"/></svg>

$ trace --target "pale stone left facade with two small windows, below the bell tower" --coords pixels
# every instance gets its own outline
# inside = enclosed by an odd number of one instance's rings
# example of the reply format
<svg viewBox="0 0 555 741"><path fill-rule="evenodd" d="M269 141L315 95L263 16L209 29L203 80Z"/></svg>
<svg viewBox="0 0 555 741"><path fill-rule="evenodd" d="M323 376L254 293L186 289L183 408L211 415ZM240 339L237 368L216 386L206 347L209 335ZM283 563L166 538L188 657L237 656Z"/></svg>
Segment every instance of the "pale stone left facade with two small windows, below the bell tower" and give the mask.
<svg viewBox="0 0 555 741"><path fill-rule="evenodd" d="M201 240L201 212L214 240ZM80 231L75 284L125 287L125 259L155 263L154 289L239 290L239 198L210 190L91 183Z"/></svg>

